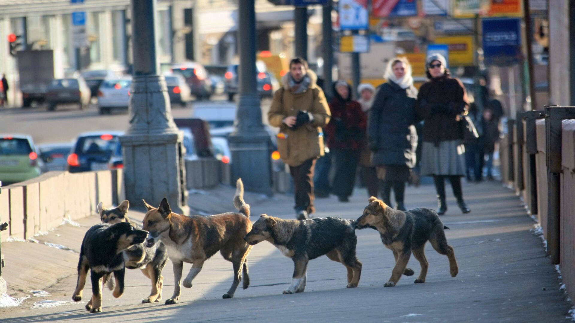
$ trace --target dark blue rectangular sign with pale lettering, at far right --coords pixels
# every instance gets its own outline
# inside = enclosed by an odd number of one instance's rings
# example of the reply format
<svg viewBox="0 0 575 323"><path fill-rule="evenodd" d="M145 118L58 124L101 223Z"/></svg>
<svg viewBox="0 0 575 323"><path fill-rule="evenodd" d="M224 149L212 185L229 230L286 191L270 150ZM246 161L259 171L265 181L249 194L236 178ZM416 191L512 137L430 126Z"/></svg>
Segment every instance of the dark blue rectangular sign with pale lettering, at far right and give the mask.
<svg viewBox="0 0 575 323"><path fill-rule="evenodd" d="M483 52L488 63L515 63L521 58L519 18L484 19Z"/></svg>

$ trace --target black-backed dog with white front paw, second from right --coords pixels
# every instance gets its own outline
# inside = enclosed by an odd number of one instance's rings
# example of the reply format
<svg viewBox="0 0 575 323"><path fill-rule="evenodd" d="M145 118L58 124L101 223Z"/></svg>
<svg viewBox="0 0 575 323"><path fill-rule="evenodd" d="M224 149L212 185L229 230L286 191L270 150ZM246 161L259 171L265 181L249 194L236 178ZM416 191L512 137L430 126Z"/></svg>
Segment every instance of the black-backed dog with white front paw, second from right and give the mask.
<svg viewBox="0 0 575 323"><path fill-rule="evenodd" d="M267 240L292 258L292 284L283 294L303 292L309 260L323 255L346 266L347 287L358 286L362 263L355 256L354 221L332 217L282 220L262 214L244 240L251 245Z"/></svg>

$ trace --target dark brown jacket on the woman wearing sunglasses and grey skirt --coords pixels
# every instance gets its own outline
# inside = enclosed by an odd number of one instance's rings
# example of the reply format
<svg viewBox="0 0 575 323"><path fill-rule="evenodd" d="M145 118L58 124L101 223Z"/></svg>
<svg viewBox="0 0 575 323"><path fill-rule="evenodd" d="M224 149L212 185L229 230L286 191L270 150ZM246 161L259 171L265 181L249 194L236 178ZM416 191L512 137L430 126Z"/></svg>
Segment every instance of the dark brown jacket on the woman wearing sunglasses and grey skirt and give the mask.
<svg viewBox="0 0 575 323"><path fill-rule="evenodd" d="M460 80L450 76L433 78L421 85L417 95L417 114L423 118L423 141L463 139L458 114L467 110L469 100Z"/></svg>

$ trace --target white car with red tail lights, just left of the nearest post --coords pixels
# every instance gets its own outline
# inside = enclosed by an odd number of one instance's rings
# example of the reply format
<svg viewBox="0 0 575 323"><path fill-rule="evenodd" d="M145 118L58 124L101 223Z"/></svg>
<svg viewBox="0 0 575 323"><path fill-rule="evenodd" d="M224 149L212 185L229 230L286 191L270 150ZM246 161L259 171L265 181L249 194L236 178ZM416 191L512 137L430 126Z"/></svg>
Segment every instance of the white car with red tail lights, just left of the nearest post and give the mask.
<svg viewBox="0 0 575 323"><path fill-rule="evenodd" d="M98 109L100 114L112 110L128 110L132 76L106 79L98 89Z"/></svg>

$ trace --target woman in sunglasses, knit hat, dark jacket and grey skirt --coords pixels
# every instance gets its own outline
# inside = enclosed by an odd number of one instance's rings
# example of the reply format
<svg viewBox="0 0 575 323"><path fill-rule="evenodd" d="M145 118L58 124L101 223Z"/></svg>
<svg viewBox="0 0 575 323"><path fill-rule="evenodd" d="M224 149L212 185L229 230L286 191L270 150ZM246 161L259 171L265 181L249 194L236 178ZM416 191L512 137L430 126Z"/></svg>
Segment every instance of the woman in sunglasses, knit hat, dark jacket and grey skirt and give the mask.
<svg viewBox="0 0 575 323"><path fill-rule="evenodd" d="M465 176L461 115L469 106L465 87L450 77L441 54L427 57L426 65L430 80L421 86L417 96L417 114L424 119L421 175L434 176L439 215L447 211L446 178L451 182L457 205L463 213L469 213L461 189L461 176Z"/></svg>

